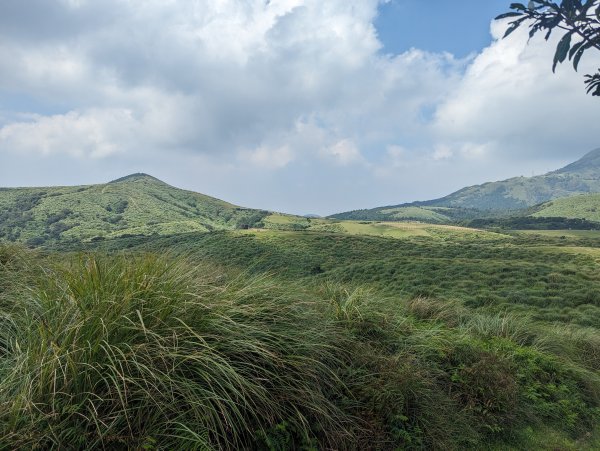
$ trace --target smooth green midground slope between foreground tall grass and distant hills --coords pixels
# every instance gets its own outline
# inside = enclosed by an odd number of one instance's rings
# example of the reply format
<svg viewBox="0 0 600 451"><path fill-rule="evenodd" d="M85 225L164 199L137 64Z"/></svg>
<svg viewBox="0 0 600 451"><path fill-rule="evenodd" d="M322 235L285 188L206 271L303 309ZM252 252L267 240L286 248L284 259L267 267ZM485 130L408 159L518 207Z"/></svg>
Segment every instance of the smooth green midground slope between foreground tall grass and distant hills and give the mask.
<svg viewBox="0 0 600 451"><path fill-rule="evenodd" d="M571 238L424 226L390 239L333 232L237 231L117 240L106 249L169 249L278 276L331 279L400 299L431 296L473 308L600 328L600 233Z"/></svg>

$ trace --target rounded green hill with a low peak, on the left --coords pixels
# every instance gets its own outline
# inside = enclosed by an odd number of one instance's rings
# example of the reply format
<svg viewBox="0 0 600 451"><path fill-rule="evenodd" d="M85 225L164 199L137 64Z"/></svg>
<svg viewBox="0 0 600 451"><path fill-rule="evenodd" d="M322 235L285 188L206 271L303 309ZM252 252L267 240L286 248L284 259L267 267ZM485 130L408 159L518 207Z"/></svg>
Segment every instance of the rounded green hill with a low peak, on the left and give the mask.
<svg viewBox="0 0 600 451"><path fill-rule="evenodd" d="M101 185L0 189L0 240L42 244L227 230L267 214L132 174Z"/></svg>

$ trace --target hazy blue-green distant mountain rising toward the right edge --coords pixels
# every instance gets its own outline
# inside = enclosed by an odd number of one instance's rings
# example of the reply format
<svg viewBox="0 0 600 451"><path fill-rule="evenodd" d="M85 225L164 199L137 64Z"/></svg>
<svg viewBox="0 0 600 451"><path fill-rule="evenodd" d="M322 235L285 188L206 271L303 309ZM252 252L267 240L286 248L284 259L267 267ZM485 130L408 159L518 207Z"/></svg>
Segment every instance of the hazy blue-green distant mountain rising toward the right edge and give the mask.
<svg viewBox="0 0 600 451"><path fill-rule="evenodd" d="M439 199L356 210L331 217L453 222L460 218L507 214L553 199L599 192L600 149L596 149L576 162L544 175L484 183L463 188Z"/></svg>

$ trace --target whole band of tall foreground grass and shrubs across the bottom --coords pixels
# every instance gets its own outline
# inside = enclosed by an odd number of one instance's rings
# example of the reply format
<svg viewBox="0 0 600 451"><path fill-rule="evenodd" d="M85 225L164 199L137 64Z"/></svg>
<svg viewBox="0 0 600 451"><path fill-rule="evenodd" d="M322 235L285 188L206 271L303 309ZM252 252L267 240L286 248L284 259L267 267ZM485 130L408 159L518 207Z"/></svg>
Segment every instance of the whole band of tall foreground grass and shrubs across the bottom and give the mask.
<svg viewBox="0 0 600 451"><path fill-rule="evenodd" d="M318 276L0 246L0 449L520 449L548 427L576 446L597 346Z"/></svg>

